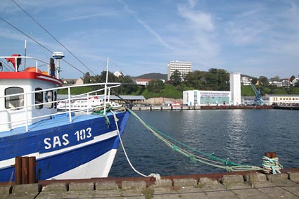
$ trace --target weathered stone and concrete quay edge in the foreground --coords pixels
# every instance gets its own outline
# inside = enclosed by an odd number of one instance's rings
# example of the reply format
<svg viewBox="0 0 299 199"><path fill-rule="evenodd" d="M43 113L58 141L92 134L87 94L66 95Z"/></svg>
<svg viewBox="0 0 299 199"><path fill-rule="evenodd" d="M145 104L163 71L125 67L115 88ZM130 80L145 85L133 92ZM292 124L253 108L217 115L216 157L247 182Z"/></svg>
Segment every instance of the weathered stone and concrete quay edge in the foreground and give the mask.
<svg viewBox="0 0 299 199"><path fill-rule="evenodd" d="M299 198L299 169L281 174L233 172L188 176L1 183L0 198Z"/></svg>

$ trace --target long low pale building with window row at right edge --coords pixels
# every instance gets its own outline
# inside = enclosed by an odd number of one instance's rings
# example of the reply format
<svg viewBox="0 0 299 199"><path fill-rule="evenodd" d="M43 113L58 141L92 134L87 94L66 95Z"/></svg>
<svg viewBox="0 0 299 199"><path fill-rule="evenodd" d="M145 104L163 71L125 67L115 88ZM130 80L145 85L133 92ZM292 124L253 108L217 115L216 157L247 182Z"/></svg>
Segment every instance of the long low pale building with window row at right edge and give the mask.
<svg viewBox="0 0 299 199"><path fill-rule="evenodd" d="M299 95L269 95L269 105L299 105Z"/></svg>

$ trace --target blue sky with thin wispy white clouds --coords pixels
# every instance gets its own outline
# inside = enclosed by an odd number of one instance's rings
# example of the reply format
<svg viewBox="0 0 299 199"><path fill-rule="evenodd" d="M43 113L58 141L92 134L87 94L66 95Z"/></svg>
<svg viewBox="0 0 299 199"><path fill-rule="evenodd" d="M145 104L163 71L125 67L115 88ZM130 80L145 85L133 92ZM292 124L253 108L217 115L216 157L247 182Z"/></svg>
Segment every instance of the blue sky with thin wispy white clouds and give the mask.
<svg viewBox="0 0 299 199"><path fill-rule="evenodd" d="M222 68L268 78L299 75L297 0L14 0L63 46L100 74L137 76L167 73L170 60L192 62L192 70ZM1 0L0 17L30 35L82 72L87 68L42 30L11 0ZM48 60L49 51L0 19L0 55ZM82 73L62 63L64 78Z"/></svg>

